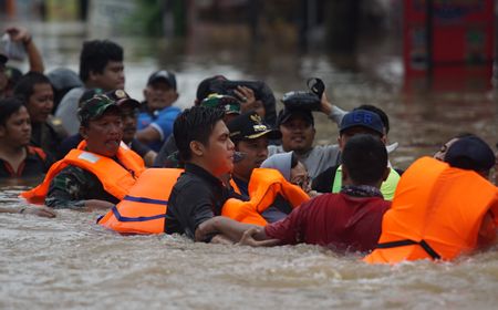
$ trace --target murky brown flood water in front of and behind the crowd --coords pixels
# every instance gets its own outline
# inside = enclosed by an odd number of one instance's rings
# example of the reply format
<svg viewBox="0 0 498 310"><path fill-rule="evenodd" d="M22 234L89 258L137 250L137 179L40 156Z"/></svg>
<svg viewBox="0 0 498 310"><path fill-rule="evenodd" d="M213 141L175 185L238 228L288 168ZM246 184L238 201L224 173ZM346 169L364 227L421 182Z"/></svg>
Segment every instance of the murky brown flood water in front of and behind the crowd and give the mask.
<svg viewBox="0 0 498 310"><path fill-rule="evenodd" d="M89 34L37 29L48 71L76 70ZM401 168L459 132L497 142L496 91L488 81L457 81L456 90L430 90L418 81L409 91L393 41L365 40L362 52L340 56L278 46L205 49L191 40L115 40L125 46L126 87L137 99L159 68L177 72L180 106L190 105L197 83L212 74L264 80L278 99L304 90L307 78L321 76L339 106L369 103L387 112L390 140L400 143L391 161ZM336 126L324 115L317 120L318 143L334 142ZM3 182L0 204L24 205L18 195L34 184ZM498 302L496 248L450 264L369 266L357 255L314 246L255 249L181 236L125 237L95 225L101 214L61 210L55 219L0 214L0 309L495 309Z"/></svg>

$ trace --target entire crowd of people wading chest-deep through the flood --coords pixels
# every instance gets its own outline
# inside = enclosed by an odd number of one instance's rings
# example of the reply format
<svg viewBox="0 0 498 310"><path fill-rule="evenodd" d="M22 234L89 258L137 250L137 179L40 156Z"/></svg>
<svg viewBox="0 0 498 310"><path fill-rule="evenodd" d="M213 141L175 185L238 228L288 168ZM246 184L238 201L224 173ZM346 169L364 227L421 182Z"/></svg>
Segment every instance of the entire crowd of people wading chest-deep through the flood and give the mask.
<svg viewBox="0 0 498 310"><path fill-rule="evenodd" d="M45 75L30 33L8 33L30 70L8 74L0 54L0 177L44 179L21 194L39 206L0 211L96 209L106 213L100 225L123 234L307 242L372 264L450 260L496 239L496 156L474 134L403 172L388 159L397 143L387 142L387 114L369 104L343 111L323 84L287 93L277 113L264 82L207 76L181 111L172 71L151 74L142 102L125 92L113 41L84 42L79 74ZM338 125L338 143L315 145L313 113Z"/></svg>

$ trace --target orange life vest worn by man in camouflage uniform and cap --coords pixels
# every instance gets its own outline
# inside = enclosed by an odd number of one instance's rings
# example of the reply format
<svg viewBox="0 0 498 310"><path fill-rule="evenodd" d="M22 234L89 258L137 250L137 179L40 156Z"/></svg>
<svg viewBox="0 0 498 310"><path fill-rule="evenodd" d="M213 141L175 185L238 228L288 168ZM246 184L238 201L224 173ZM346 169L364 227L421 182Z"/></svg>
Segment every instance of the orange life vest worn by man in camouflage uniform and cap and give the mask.
<svg viewBox="0 0 498 310"><path fill-rule="evenodd" d="M83 141L77 148L71 149L64 158L50 167L39 186L21 193L21 197L31 204L43 204L52 179L68 165L73 165L94 174L104 186L105 192L123 199L135 184L136 177L145 169L142 157L121 143L116 157L126 167L124 168L112 158L83 151L85 146L86 142Z"/></svg>

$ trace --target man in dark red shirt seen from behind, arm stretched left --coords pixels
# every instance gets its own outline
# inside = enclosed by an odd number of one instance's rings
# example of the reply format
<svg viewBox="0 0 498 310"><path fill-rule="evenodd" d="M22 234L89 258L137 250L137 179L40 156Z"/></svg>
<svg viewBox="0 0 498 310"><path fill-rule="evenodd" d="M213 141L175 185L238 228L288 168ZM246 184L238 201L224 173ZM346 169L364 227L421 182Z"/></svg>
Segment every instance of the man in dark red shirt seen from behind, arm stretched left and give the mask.
<svg viewBox="0 0 498 310"><path fill-rule="evenodd" d="M315 197L264 228L216 217L203 223L196 236L222 234L250 246L305 242L341 251L372 250L391 205L378 189L390 174L387 152L378 138L360 134L347 141L342 156L341 193Z"/></svg>

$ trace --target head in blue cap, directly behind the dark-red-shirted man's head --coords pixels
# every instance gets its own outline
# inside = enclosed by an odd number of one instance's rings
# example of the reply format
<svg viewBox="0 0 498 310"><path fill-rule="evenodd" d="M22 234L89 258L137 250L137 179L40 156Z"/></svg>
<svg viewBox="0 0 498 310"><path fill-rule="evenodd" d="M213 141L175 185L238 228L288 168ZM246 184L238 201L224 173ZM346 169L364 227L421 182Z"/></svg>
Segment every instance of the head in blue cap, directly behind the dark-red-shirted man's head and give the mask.
<svg viewBox="0 0 498 310"><path fill-rule="evenodd" d="M353 110L344 115L339 127L338 143L341 149L347 141L357 134L370 134L385 144L384 125L381 117L366 110Z"/></svg>

